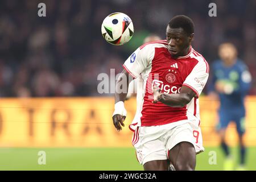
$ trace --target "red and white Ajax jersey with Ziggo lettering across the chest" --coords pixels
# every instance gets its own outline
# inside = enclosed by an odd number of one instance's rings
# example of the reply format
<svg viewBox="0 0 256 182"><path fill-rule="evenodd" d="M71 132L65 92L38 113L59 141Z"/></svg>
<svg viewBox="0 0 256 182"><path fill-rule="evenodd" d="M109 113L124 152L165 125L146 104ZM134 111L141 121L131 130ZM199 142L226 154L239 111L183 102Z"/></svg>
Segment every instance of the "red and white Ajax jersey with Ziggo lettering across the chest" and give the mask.
<svg viewBox="0 0 256 182"><path fill-rule="evenodd" d="M167 41L159 40L139 47L123 64L123 68L137 78L137 111L130 125L155 126L184 119L199 119L199 96L209 76L209 65L192 47L187 56L174 59L167 49ZM163 93L180 93L188 86L196 96L184 107L153 104L152 86Z"/></svg>

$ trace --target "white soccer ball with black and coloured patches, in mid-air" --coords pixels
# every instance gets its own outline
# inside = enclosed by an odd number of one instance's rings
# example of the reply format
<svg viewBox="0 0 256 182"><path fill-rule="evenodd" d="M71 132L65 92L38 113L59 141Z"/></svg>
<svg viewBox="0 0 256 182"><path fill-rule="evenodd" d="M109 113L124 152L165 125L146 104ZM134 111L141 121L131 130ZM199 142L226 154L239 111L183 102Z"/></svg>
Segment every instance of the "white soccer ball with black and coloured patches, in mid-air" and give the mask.
<svg viewBox="0 0 256 182"><path fill-rule="evenodd" d="M134 28L131 18L123 13L112 13L103 20L101 33L104 39L115 46L121 46L131 39Z"/></svg>

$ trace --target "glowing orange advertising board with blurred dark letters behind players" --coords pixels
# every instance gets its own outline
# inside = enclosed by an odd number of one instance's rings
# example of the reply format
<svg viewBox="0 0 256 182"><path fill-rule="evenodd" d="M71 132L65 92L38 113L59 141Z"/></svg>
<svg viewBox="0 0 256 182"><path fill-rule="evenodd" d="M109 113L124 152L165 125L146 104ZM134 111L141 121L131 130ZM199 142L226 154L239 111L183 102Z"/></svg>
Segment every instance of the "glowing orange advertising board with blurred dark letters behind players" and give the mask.
<svg viewBox="0 0 256 182"><path fill-rule="evenodd" d="M125 103L125 128L114 129L113 97L3 98L0 102L0 147L130 147L133 133L128 125L136 110L135 98ZM204 146L219 142L215 130L218 102L200 98ZM246 99L246 143L256 146L256 97ZM235 125L228 143L236 144Z"/></svg>

